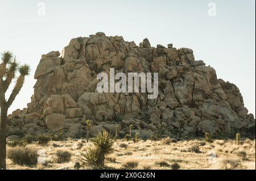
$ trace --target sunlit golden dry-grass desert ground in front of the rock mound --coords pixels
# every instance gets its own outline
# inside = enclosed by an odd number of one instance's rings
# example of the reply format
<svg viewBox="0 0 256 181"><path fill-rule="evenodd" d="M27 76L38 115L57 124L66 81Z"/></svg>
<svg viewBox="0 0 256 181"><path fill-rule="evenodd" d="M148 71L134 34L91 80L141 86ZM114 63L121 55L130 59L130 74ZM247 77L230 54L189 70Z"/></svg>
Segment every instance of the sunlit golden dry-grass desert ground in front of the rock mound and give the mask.
<svg viewBox="0 0 256 181"><path fill-rule="evenodd" d="M80 163L78 155L85 151L92 143L86 140L50 141L39 145L31 142L25 146L38 150L42 157L41 163L32 166L15 164L7 159L7 169L77 169ZM7 154L17 147L7 146ZM68 151L70 155L59 159L58 150ZM79 164L80 165L80 164ZM75 167L74 167L75 166ZM255 140L245 139L238 145L236 140L201 140L172 141L170 138L162 140L139 140L138 142L117 140L113 145L113 152L105 159L106 169L255 169ZM82 165L79 169L91 169Z"/></svg>

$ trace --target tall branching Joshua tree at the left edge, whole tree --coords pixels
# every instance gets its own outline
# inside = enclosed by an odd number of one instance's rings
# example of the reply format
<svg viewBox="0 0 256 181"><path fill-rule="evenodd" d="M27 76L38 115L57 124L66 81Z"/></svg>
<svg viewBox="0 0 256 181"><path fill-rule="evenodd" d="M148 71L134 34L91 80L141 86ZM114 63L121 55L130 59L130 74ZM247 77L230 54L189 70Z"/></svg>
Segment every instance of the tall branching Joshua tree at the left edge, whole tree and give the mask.
<svg viewBox="0 0 256 181"><path fill-rule="evenodd" d="M16 79L16 84L9 99L5 98L5 93L10 83L15 78L16 70L20 75ZM23 86L25 76L30 72L30 66L27 64L19 66L16 58L13 59L13 53L7 51L2 53L2 63L0 64L0 108L1 108L1 125L0 125L0 170L6 169L6 134L7 134L7 112L14 102L16 95L19 94Z"/></svg>

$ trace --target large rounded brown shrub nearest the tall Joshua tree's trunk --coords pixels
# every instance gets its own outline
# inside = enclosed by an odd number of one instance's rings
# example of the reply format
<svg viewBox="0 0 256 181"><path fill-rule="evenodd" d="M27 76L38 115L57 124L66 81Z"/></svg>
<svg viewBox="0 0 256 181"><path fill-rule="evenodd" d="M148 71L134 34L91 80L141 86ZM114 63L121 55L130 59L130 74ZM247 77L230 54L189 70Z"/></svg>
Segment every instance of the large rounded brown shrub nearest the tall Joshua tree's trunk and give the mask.
<svg viewBox="0 0 256 181"><path fill-rule="evenodd" d="M33 148L16 146L7 150L7 158L18 165L35 165L38 162L38 151Z"/></svg>

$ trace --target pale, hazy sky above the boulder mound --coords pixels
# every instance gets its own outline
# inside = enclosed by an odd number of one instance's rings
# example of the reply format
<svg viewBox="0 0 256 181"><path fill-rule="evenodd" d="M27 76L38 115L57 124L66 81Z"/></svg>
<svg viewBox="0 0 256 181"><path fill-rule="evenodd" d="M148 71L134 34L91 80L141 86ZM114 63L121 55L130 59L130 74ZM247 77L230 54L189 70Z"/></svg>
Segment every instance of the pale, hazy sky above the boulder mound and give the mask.
<svg viewBox="0 0 256 181"><path fill-rule="evenodd" d="M39 2L46 5L44 16L38 14ZM216 16L208 15L209 2L216 4ZM32 68L9 112L30 102L42 54L61 52L73 37L99 31L137 45L147 37L154 47L193 49L196 60L239 87L255 115L255 0L0 0L0 52L11 50Z"/></svg>

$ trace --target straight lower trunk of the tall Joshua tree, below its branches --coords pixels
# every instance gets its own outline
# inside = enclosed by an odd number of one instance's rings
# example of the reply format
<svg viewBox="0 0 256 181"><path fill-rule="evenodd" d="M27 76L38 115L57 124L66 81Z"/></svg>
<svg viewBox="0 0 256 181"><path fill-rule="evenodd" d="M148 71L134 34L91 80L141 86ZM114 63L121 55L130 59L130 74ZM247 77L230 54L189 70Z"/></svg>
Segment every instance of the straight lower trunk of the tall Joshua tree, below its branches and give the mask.
<svg viewBox="0 0 256 181"><path fill-rule="evenodd" d="M0 170L6 170L6 124L7 108L1 108L0 125Z"/></svg>

